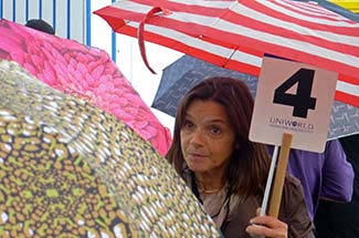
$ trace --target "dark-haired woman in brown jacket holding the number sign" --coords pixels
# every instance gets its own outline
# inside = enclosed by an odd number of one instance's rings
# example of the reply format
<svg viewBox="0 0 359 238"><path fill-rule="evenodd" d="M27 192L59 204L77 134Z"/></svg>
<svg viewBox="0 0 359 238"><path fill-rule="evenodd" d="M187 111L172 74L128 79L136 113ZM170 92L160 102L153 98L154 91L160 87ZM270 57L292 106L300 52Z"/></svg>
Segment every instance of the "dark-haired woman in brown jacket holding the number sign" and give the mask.
<svg viewBox="0 0 359 238"><path fill-rule="evenodd" d="M224 237L314 237L302 187L291 176L284 185L282 221L256 216L271 158L265 145L249 141L253 105L240 80L202 81L178 107L166 157Z"/></svg>

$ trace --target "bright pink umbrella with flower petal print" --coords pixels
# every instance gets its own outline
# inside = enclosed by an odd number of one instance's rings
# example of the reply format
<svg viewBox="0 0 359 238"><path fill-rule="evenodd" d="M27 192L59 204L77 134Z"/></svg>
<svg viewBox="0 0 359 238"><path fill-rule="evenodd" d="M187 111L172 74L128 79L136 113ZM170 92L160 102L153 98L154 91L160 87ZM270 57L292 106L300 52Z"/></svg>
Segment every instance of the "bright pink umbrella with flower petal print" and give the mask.
<svg viewBox="0 0 359 238"><path fill-rule="evenodd" d="M171 136L149 106L99 49L0 20L0 59L18 62L50 86L115 115L161 155Z"/></svg>

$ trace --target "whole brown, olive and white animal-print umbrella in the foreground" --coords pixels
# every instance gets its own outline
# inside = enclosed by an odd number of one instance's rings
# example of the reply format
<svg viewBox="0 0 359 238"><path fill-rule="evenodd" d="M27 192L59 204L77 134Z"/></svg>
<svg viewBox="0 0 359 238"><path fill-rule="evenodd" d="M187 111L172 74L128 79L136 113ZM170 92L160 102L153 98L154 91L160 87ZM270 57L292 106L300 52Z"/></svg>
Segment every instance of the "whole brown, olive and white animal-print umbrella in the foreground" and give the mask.
<svg viewBox="0 0 359 238"><path fill-rule="evenodd" d="M113 115L0 60L6 237L219 237L171 165Z"/></svg>

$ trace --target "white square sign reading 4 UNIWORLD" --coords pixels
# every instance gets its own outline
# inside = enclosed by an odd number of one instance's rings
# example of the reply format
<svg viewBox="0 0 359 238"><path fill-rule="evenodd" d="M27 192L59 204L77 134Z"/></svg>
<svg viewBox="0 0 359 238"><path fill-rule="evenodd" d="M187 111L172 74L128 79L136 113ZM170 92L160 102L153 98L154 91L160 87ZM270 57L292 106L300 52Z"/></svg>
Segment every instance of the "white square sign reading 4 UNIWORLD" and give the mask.
<svg viewBox="0 0 359 238"><path fill-rule="evenodd" d="M338 74L304 63L264 56L250 130L253 142L321 153Z"/></svg>

